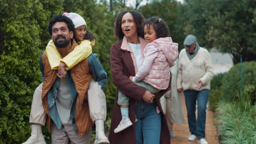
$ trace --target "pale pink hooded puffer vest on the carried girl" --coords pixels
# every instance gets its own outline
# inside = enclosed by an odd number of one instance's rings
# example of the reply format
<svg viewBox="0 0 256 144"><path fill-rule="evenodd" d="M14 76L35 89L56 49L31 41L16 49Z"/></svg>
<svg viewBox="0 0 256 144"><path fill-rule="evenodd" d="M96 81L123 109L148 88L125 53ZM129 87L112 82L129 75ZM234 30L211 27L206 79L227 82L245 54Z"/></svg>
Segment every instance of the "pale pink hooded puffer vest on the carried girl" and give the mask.
<svg viewBox="0 0 256 144"><path fill-rule="evenodd" d="M143 81L157 89L166 89L170 82L170 67L178 57L178 44L173 43L171 37L159 38L147 44L144 52L151 46L155 46L159 50L159 55L154 59L152 67Z"/></svg>

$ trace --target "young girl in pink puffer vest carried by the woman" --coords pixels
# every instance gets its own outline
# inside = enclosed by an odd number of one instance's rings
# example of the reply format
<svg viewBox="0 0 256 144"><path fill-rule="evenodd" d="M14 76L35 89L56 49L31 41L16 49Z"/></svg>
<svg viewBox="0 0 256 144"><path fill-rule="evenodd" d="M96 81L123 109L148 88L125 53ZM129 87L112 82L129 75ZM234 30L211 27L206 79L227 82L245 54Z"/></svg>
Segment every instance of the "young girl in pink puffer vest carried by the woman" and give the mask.
<svg viewBox="0 0 256 144"><path fill-rule="evenodd" d="M171 79L170 67L178 57L178 44L168 37L169 29L164 20L152 17L142 24L144 39L148 43L142 52L142 63L138 65L138 73L130 80L137 85L145 87L149 92L157 93L167 89ZM135 55L136 58L136 55ZM136 59L138 61L138 59ZM153 103L153 100L146 101ZM119 91L118 104L120 105L122 119L114 133L130 127L129 97Z"/></svg>

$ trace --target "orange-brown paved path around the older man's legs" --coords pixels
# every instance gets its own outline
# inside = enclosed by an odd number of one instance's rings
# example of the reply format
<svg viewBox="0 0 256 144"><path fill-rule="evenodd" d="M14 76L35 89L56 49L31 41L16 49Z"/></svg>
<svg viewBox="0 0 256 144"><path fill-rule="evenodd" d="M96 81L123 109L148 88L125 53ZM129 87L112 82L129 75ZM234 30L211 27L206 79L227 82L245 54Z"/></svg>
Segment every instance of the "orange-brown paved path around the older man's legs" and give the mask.
<svg viewBox="0 0 256 144"><path fill-rule="evenodd" d="M188 136L190 135L190 132L188 128L187 109L185 106L184 95L179 94L179 99L181 100L185 123L181 125L173 125L173 130L175 131L176 136L171 137L171 144L196 144L197 140L193 142L188 141ZM219 144L217 130L214 126L213 112L210 110L209 106L207 106L206 110L206 140L208 144Z"/></svg>

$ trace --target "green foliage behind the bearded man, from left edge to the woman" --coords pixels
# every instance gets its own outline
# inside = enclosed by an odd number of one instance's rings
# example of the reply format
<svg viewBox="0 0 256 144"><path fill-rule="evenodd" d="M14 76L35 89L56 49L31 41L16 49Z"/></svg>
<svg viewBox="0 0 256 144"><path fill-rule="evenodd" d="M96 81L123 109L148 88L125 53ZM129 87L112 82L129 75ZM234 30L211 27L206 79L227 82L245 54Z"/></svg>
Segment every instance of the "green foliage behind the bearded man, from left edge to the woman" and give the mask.
<svg viewBox="0 0 256 144"><path fill-rule="evenodd" d="M28 118L34 89L40 83L39 54L50 39L50 18L66 11L79 13L96 36L93 49L108 73L105 93L108 118L115 96L109 65L115 16L106 4L96 1L4 1L0 0L0 143L21 143L30 136ZM111 22L110 22L111 21ZM50 136L44 128L46 141Z"/></svg>

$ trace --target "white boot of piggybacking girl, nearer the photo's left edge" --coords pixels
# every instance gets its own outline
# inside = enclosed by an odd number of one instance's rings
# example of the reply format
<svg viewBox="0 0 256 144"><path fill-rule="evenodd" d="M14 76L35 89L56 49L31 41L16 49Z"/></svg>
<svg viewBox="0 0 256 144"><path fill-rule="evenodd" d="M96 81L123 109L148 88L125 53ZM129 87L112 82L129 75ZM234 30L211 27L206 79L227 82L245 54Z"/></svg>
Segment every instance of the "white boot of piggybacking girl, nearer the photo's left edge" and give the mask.
<svg viewBox="0 0 256 144"><path fill-rule="evenodd" d="M31 136L26 142L22 144L46 144L42 134L42 126L31 124Z"/></svg>

